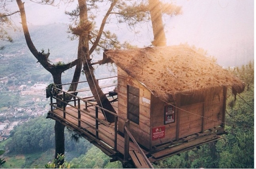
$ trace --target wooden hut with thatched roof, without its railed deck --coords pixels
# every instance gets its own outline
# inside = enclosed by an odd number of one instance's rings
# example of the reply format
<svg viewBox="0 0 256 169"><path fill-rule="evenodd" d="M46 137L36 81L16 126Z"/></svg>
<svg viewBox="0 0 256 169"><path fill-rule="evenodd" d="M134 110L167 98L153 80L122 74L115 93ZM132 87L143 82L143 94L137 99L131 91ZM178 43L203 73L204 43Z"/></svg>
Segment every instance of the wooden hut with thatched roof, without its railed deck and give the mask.
<svg viewBox="0 0 256 169"><path fill-rule="evenodd" d="M153 158L174 144L219 139L227 87L234 94L244 90L238 78L183 45L105 50L103 60L118 67L118 114L130 120L132 135ZM120 119L122 133L123 126Z"/></svg>

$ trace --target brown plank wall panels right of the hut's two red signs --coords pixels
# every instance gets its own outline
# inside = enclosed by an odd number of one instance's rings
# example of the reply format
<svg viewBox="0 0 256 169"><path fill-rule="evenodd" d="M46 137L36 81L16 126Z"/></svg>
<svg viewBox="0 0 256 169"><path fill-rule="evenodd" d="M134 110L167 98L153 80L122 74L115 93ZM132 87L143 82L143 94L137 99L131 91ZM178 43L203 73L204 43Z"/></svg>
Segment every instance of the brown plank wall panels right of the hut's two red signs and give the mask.
<svg viewBox="0 0 256 169"><path fill-rule="evenodd" d="M205 103L196 103L182 106L180 110L180 135L186 137L204 130L222 125L224 112L224 92L219 92L205 97ZM188 111L188 112L187 112ZM203 118L205 117L205 118Z"/></svg>

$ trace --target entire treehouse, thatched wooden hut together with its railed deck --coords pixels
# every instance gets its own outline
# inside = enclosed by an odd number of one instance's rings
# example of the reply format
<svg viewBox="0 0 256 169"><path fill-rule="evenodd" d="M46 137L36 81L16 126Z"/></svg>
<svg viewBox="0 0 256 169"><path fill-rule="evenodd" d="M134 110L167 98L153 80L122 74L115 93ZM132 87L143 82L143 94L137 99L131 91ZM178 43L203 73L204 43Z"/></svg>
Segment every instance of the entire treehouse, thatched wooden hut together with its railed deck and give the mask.
<svg viewBox="0 0 256 169"><path fill-rule="evenodd" d="M244 90L238 78L185 45L105 50L99 63L117 65L117 97L106 93L116 113L92 103L93 98L55 88L61 97L51 95L48 118L124 167L152 168L160 159L221 139L227 90ZM73 99L63 99L67 94ZM66 106L58 108L53 99ZM114 122L106 121L104 112Z"/></svg>

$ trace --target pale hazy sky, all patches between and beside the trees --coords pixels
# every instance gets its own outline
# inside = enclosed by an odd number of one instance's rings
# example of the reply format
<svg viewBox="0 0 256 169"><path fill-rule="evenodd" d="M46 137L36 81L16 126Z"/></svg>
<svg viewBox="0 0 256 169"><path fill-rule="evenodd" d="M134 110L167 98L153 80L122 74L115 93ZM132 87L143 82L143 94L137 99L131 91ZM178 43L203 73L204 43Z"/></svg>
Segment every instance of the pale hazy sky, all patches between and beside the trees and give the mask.
<svg viewBox="0 0 256 169"><path fill-rule="evenodd" d="M183 14L165 18L167 45L188 43L203 48L222 66L242 65L254 59L254 0L173 0L182 6ZM73 5L74 6L74 5ZM63 8L25 3L27 20L33 25L67 22ZM73 9L71 7L67 9ZM121 39L147 46L153 40L151 28L145 25L134 36L127 29L112 24ZM150 32L148 32L150 30Z"/></svg>

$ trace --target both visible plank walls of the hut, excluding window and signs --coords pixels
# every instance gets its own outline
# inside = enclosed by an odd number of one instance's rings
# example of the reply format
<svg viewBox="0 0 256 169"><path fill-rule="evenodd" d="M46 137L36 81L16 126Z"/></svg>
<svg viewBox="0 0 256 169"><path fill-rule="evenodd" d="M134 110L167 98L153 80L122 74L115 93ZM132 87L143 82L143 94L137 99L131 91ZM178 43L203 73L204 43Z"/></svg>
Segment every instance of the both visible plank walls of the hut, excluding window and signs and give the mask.
<svg viewBox="0 0 256 169"><path fill-rule="evenodd" d="M132 79L121 68L118 68L118 114L127 118L127 85L140 89L139 125L131 122L130 130L138 143L147 149L177 140L176 136L183 138L223 125L223 123L219 122L225 119L224 106L226 98L223 88L220 88L219 92L214 95L207 95L204 100L205 102L182 106L181 109L183 110L179 110L179 119L177 119L177 110L175 110L175 122L165 125L165 103L152 95L141 83ZM145 102L145 99L148 99L150 104ZM203 119L202 116L206 118ZM178 120L179 133L176 132ZM151 136L152 128L162 126L165 126L165 137L153 141ZM123 133L123 128L124 122L119 120L118 130Z"/></svg>

